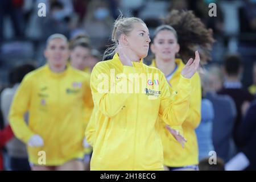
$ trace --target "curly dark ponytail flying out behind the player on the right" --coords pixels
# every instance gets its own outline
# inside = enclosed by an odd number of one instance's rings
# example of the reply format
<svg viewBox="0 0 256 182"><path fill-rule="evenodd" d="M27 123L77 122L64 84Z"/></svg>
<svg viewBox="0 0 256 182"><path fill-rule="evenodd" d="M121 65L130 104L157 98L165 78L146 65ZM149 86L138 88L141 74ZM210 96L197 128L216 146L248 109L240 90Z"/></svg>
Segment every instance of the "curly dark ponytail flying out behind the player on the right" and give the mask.
<svg viewBox="0 0 256 182"><path fill-rule="evenodd" d="M174 27L179 38L179 56L185 63L194 57L195 51L200 53L201 64L212 60L210 51L214 42L212 29L207 29L193 11L172 10L162 19L164 24Z"/></svg>

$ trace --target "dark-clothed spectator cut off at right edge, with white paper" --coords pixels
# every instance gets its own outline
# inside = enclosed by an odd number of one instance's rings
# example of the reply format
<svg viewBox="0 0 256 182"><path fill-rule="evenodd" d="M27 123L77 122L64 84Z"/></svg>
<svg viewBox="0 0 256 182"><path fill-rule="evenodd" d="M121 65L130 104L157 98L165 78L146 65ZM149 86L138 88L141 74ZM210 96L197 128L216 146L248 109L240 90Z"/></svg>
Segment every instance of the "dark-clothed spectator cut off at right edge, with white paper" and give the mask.
<svg viewBox="0 0 256 182"><path fill-rule="evenodd" d="M238 126L237 141L241 152L226 164L226 169L256 170L256 100L251 102L245 118Z"/></svg>

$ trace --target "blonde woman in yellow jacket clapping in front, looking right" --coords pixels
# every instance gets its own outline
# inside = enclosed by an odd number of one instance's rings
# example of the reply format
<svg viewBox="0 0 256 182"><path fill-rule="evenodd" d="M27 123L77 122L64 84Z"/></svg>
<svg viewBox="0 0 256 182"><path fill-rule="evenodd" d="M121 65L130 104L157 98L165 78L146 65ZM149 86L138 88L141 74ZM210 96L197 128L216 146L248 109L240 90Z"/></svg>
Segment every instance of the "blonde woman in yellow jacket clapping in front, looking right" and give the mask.
<svg viewBox="0 0 256 182"><path fill-rule="evenodd" d="M85 134L93 146L90 167L92 170L163 170L158 116L182 132L181 124L189 107L190 78L199 67L199 53L181 72L179 92L170 93L163 73L143 64L151 40L141 19L119 17L114 23L112 40L114 47L106 51L105 57L114 55L113 58L98 63L90 81L94 111ZM103 73L110 78L113 69L119 76L114 77L115 82L108 79L109 90L100 92L98 84L102 79L98 76ZM110 93L112 88L120 90L123 82L135 84L127 75L141 73L158 77L146 78L146 83L140 81L144 93Z"/></svg>

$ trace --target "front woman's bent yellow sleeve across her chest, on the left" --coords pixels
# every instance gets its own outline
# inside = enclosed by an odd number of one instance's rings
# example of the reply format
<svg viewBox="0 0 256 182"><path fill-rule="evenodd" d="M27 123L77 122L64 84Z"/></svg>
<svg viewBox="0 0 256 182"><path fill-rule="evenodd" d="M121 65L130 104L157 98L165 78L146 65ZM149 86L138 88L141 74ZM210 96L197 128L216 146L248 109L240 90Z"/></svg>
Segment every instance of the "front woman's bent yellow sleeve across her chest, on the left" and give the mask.
<svg viewBox="0 0 256 182"><path fill-rule="evenodd" d="M123 66L123 73L125 75L127 75L127 73L132 73L133 70L133 67ZM92 89L94 105L102 114L111 118L122 109L127 98L131 94L110 92L110 90L115 90L115 92L117 92L117 90L122 90L122 85L127 85L129 80L127 77L114 78L112 83L112 81L109 80L111 79L109 75L110 73L101 68L100 64L96 65L92 71L90 86ZM102 89L101 86L103 86L104 89Z"/></svg>

